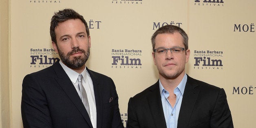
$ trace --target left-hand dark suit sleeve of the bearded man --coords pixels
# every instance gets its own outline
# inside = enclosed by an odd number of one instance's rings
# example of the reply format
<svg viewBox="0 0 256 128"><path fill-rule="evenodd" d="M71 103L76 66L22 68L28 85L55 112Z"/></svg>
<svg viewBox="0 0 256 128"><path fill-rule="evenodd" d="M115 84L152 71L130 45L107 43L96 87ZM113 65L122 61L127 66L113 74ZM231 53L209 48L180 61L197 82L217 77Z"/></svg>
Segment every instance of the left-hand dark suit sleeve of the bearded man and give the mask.
<svg viewBox="0 0 256 128"><path fill-rule="evenodd" d="M44 91L32 75L23 79L21 114L24 128L53 127Z"/></svg>

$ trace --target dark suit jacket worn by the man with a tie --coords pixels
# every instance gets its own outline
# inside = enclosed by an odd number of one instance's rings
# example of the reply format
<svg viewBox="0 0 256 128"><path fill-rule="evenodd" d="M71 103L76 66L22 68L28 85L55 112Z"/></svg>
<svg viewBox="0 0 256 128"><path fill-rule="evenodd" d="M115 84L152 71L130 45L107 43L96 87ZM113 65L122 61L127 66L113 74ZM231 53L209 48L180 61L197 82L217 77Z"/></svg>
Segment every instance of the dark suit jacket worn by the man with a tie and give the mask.
<svg viewBox="0 0 256 128"><path fill-rule="evenodd" d="M97 128L124 128L113 80L88 72L93 81ZM24 128L93 128L82 100L59 62L24 77L21 114Z"/></svg>

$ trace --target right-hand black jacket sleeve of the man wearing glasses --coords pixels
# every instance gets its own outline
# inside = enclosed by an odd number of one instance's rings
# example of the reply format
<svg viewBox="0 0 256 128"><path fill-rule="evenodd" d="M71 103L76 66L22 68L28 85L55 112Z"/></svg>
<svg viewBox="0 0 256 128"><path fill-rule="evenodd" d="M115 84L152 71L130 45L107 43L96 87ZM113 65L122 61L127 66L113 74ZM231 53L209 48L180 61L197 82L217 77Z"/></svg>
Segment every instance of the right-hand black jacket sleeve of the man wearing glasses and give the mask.
<svg viewBox="0 0 256 128"><path fill-rule="evenodd" d="M211 128L234 128L227 96L223 88L218 93L216 104L210 119Z"/></svg>

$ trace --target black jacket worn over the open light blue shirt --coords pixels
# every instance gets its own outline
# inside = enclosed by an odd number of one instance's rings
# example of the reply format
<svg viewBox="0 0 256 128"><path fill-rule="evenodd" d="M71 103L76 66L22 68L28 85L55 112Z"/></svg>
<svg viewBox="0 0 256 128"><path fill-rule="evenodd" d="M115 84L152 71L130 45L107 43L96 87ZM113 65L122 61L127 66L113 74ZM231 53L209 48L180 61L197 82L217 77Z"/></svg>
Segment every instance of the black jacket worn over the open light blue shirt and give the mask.
<svg viewBox="0 0 256 128"><path fill-rule="evenodd" d="M130 98L127 128L166 128L158 81ZM233 128L224 89L188 76L177 128Z"/></svg>

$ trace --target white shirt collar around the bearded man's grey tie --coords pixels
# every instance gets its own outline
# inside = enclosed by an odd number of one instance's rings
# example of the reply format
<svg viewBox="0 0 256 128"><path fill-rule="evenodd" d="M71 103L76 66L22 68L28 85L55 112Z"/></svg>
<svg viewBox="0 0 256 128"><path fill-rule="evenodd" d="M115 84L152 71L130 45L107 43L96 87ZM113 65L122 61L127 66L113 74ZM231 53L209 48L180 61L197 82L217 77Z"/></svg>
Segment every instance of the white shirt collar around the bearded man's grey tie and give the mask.
<svg viewBox="0 0 256 128"><path fill-rule="evenodd" d="M72 70L71 68L68 68L68 66L66 66L65 64L63 64L62 61L60 61L60 65L62 66L62 68L64 69L64 71L67 73L69 79L71 80L71 82L73 82L73 84L75 84L77 82L77 78L79 73L77 73L76 71ZM84 71L82 71L82 76L84 77L84 79L86 79L86 68L84 68Z"/></svg>

